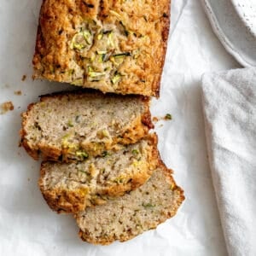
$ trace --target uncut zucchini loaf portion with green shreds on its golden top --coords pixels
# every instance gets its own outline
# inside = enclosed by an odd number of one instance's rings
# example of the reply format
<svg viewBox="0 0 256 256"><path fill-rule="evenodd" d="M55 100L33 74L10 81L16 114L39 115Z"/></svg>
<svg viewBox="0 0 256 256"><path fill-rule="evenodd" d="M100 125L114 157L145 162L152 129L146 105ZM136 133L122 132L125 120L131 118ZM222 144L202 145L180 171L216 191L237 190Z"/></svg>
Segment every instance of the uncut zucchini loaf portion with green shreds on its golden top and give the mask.
<svg viewBox="0 0 256 256"><path fill-rule="evenodd" d="M170 0L44 0L34 78L158 96Z"/></svg>

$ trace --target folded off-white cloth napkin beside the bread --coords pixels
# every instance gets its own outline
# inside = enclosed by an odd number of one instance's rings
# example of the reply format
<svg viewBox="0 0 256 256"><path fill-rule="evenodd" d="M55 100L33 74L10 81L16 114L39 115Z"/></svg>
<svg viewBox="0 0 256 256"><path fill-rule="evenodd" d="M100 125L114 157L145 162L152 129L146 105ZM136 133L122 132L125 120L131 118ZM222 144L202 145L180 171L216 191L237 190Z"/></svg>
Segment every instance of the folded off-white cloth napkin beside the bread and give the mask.
<svg viewBox="0 0 256 256"><path fill-rule="evenodd" d="M207 148L230 255L256 255L256 67L202 79Z"/></svg>

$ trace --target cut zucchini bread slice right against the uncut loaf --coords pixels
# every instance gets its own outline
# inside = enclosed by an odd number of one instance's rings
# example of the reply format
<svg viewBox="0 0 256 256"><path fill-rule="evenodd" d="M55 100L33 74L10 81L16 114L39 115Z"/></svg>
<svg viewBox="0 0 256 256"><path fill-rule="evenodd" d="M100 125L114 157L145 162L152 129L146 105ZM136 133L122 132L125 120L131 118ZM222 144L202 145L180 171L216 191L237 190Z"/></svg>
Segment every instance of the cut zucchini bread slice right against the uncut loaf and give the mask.
<svg viewBox="0 0 256 256"><path fill-rule="evenodd" d="M35 160L84 160L137 143L153 128L148 97L95 91L41 96L22 118L21 145Z"/></svg>

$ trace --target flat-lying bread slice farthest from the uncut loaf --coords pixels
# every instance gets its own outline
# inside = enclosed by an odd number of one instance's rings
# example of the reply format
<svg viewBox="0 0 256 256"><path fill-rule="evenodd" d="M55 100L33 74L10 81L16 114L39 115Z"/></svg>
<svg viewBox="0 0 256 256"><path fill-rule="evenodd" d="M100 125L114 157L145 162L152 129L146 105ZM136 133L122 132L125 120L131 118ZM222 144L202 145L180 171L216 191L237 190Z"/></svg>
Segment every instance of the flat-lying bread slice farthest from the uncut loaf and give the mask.
<svg viewBox="0 0 256 256"><path fill-rule="evenodd" d="M160 165L140 188L105 205L79 212L76 215L79 236L84 241L102 245L127 241L174 216L184 196L171 173Z"/></svg>

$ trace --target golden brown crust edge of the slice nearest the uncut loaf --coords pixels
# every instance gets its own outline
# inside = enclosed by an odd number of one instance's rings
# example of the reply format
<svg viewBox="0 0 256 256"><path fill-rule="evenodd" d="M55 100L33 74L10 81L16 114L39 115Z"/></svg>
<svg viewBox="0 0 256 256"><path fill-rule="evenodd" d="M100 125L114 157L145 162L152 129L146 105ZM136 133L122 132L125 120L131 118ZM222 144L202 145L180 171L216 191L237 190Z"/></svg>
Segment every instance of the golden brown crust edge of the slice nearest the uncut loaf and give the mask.
<svg viewBox="0 0 256 256"><path fill-rule="evenodd" d="M54 99L54 98L61 99L64 96L72 96L72 95L83 97L84 93L91 94L92 98L94 96L99 95L99 92L97 92L96 90L61 91L61 92L55 92L52 94L40 96L40 102L44 102L44 101L47 101L49 99ZM116 98L120 97L118 95L111 94L111 93L106 94L106 95L101 94L101 96L102 96L102 98L105 98L108 96L112 96L112 97L116 97ZM86 151L89 154L92 154L94 156L96 156L98 154L102 154L102 151L111 150L111 149L115 148L116 144L118 144L118 143L125 144L125 145L131 144L131 143L137 143L137 141L139 141L140 139L142 139L143 137L148 135L148 131L150 129L154 128L154 125L151 120L151 113L149 110L150 98L148 96L134 96L134 97L137 97L137 99L139 99L143 102L143 105L144 105L143 115L141 117L138 117L137 119L135 119L134 122L131 123L131 126L127 127L127 129L125 130L125 132L122 136L113 138L113 141L111 144L103 145L102 148L99 149L99 152L95 151L95 149L90 150L90 148L93 148L93 147L92 147L92 144L91 145L88 144L87 145L88 148L84 148L84 149L86 149ZM70 155L67 154L67 150L65 148L57 148L54 146L49 146L44 143L39 143L37 145L37 147L32 147L30 145L30 143L27 141L26 130L24 129L24 127L26 127L27 119L29 119L28 113L32 110L32 108L35 104L37 104L37 103L31 103L27 107L27 111L25 113L21 114L22 128L20 130L20 138L21 138L20 145L26 149L27 154L29 154L34 160L38 160L39 156L41 155L43 160L54 160L54 161L61 160L61 161L65 161L65 162L73 161L73 159L70 158ZM84 145L84 147L85 147L85 145Z"/></svg>

